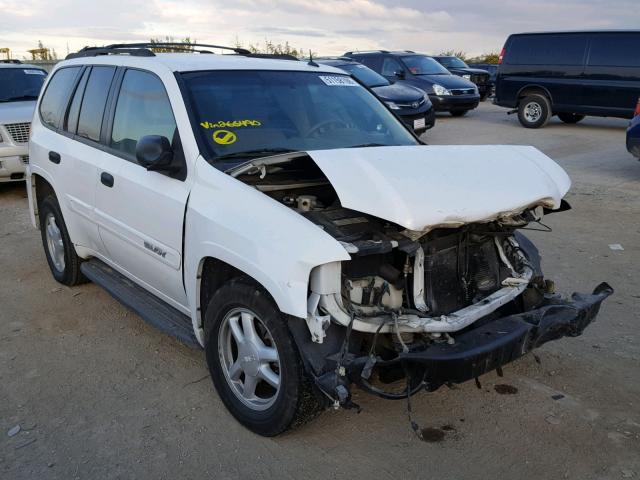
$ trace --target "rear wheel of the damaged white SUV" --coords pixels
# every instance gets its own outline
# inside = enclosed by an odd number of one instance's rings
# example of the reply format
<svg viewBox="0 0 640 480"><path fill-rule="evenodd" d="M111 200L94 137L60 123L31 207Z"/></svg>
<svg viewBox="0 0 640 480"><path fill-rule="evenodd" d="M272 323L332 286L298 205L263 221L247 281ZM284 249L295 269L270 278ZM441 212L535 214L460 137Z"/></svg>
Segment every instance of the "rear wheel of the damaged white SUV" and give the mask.
<svg viewBox="0 0 640 480"><path fill-rule="evenodd" d="M80 272L82 260L71 243L56 197L45 197L38 210L42 244L53 278L70 287L87 282Z"/></svg>

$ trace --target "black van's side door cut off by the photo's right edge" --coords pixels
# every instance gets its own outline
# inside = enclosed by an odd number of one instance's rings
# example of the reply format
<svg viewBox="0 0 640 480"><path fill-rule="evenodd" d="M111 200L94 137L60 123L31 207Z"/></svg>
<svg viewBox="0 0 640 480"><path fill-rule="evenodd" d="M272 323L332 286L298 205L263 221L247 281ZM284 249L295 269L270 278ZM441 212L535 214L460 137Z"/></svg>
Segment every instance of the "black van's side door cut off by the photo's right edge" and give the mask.
<svg viewBox="0 0 640 480"><path fill-rule="evenodd" d="M584 76L589 110L631 118L640 96L640 33L593 34Z"/></svg>

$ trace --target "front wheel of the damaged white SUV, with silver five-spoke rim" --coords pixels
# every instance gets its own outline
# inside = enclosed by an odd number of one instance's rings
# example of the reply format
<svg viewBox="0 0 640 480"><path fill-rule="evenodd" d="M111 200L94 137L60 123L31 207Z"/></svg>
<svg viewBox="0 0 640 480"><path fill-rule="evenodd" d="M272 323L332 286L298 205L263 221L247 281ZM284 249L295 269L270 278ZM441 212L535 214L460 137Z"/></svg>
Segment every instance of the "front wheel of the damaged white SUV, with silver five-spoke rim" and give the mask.
<svg viewBox="0 0 640 480"><path fill-rule="evenodd" d="M249 430L278 435L321 411L284 315L247 279L222 286L205 314L213 384Z"/></svg>

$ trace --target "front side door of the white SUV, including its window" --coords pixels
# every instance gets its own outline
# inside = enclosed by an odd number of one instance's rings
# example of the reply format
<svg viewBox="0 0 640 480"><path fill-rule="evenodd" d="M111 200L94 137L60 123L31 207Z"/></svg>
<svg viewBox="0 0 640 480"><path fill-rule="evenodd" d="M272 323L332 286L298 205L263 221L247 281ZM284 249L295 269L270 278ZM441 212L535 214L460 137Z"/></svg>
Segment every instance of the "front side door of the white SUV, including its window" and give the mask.
<svg viewBox="0 0 640 480"><path fill-rule="evenodd" d="M123 71L103 139L107 158L97 172L96 218L105 256L119 270L177 308L182 282L184 178L147 171L136 161L138 140L161 135L183 155L169 97L160 78Z"/></svg>

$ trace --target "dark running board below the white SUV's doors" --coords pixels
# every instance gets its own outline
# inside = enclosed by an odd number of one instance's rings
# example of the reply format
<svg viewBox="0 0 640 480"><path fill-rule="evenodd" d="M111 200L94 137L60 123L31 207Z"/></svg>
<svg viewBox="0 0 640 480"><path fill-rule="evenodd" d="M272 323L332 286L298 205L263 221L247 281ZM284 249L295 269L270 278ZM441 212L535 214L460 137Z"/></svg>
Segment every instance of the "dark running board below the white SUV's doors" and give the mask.
<svg viewBox="0 0 640 480"><path fill-rule="evenodd" d="M106 263L95 258L83 262L80 270L93 283L140 315L147 323L192 348L201 348L193 334L191 318L136 285Z"/></svg>

